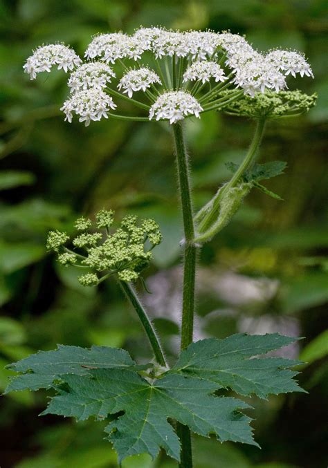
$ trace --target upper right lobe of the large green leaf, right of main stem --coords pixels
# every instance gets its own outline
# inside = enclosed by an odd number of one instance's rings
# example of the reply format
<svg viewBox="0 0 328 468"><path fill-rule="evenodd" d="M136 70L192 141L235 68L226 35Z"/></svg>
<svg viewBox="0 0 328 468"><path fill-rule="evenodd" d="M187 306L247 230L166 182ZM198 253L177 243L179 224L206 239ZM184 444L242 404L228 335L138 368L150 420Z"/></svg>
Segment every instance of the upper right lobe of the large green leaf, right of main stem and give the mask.
<svg viewBox="0 0 328 468"><path fill-rule="evenodd" d="M254 393L266 398L270 393L303 391L292 378L297 372L288 369L299 362L280 357L254 358L293 341L293 337L276 333L203 339L181 353L172 372L215 382L217 388L229 388L240 395Z"/></svg>

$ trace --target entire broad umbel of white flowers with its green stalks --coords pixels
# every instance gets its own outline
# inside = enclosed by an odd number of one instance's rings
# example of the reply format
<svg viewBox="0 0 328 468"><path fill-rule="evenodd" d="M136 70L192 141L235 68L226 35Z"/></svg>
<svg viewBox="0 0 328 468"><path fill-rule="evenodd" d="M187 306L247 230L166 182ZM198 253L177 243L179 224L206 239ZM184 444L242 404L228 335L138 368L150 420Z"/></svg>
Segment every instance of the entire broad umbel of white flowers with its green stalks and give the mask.
<svg viewBox="0 0 328 468"><path fill-rule="evenodd" d="M71 96L62 111L69 122L75 113L85 125L109 116L133 118L111 113L117 106L113 97L144 109L149 120L173 124L223 109L242 94L279 93L287 88L289 75L313 77L301 53L271 50L262 54L242 36L210 30L139 28L132 35L100 34L93 37L84 59L85 63L64 44L40 46L28 57L24 71L30 79L50 72L53 66L71 72ZM118 71L123 69L120 78L112 68L117 66ZM222 93L227 90L234 92ZM134 93L142 94L136 100ZM146 120L146 116L137 118Z"/></svg>

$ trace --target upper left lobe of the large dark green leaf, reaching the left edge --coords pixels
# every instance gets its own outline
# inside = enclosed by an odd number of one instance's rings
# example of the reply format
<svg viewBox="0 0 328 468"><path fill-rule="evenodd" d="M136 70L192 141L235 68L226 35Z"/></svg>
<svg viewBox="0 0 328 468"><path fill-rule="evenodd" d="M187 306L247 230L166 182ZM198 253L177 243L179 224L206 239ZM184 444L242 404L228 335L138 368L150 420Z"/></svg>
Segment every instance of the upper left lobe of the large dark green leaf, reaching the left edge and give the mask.
<svg viewBox="0 0 328 468"><path fill-rule="evenodd" d="M22 373L8 385L5 393L24 389L49 389L56 380L64 379L65 374L88 374L94 368L134 368L142 370L149 365L136 366L129 353L122 349L107 346L58 345L57 350L39 351L19 362L10 364L8 368Z"/></svg>

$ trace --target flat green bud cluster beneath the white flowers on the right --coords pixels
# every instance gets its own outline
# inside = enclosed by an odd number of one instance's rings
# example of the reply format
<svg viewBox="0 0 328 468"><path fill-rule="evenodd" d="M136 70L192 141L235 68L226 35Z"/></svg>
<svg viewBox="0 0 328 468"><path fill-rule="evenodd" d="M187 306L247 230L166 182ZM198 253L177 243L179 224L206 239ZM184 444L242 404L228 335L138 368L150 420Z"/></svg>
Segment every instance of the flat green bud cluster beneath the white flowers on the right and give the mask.
<svg viewBox="0 0 328 468"><path fill-rule="evenodd" d="M222 91L220 95L227 97L231 91ZM256 93L254 97L242 95L238 100L226 104L222 109L230 115L250 118L277 119L293 117L305 113L316 105L317 95L307 95L301 91L266 91Z"/></svg>

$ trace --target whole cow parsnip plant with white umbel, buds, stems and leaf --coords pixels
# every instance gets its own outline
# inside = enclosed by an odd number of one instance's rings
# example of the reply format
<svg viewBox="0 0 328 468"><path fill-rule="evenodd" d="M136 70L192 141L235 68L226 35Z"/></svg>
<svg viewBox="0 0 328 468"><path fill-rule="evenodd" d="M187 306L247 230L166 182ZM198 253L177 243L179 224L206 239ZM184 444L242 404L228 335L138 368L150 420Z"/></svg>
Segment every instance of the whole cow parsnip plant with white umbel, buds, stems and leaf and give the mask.
<svg viewBox="0 0 328 468"><path fill-rule="evenodd" d="M181 353L170 368L132 284L142 278L153 248L161 243L158 225L125 216L114 228L114 213L103 209L95 221L79 218L72 240L65 232L50 232L48 249L63 265L80 268L84 286L118 281L143 324L154 359L139 365L122 349L58 346L12 364L19 375L7 392L52 389L42 414L107 420L105 432L119 462L138 453L154 458L162 448L180 467L190 468L190 431L215 434L220 442L256 444L250 418L242 412L249 405L220 396L220 389L261 398L302 391L291 370L298 362L265 356L295 338L240 334L193 343L192 337L197 250L229 223L253 187L280 198L260 182L281 174L286 164L259 164L255 158L268 120L300 115L315 104L315 95L286 91L289 75L313 74L302 54L276 49L262 54L230 32L139 28L133 35L101 34L84 58L64 44L46 45L27 59L24 70L31 79L53 66L69 72L70 95L62 106L69 122L74 115L86 126L102 118L163 120L172 128L184 226ZM122 101L140 112L117 112ZM194 213L183 120L209 111L252 118L255 135L242 164L228 164L230 180Z"/></svg>

